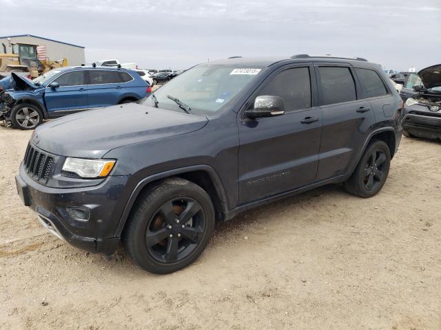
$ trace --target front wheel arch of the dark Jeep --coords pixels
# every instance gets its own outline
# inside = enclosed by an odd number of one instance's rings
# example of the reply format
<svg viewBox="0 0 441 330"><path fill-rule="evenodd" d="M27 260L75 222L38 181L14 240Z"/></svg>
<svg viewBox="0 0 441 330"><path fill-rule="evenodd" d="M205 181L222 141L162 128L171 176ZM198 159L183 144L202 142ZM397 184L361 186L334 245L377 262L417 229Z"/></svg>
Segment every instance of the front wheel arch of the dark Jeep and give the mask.
<svg viewBox="0 0 441 330"><path fill-rule="evenodd" d="M214 210L216 212L216 221L222 221L225 218L225 213L228 210L227 196L225 194L225 189L223 188L222 181L217 175L214 168L208 165L198 165L198 166L188 166L185 168L176 168L174 170L167 170L163 173L157 173L149 177L145 177L134 188L132 195L130 195L127 201L123 214L119 220L118 227L116 228L115 236L119 237L123 233L127 219L130 216L130 212L134 206L136 199L139 198L141 193L148 190L170 177L181 177L187 179L188 181L197 184L203 190L207 192L210 199L212 199Z"/></svg>

